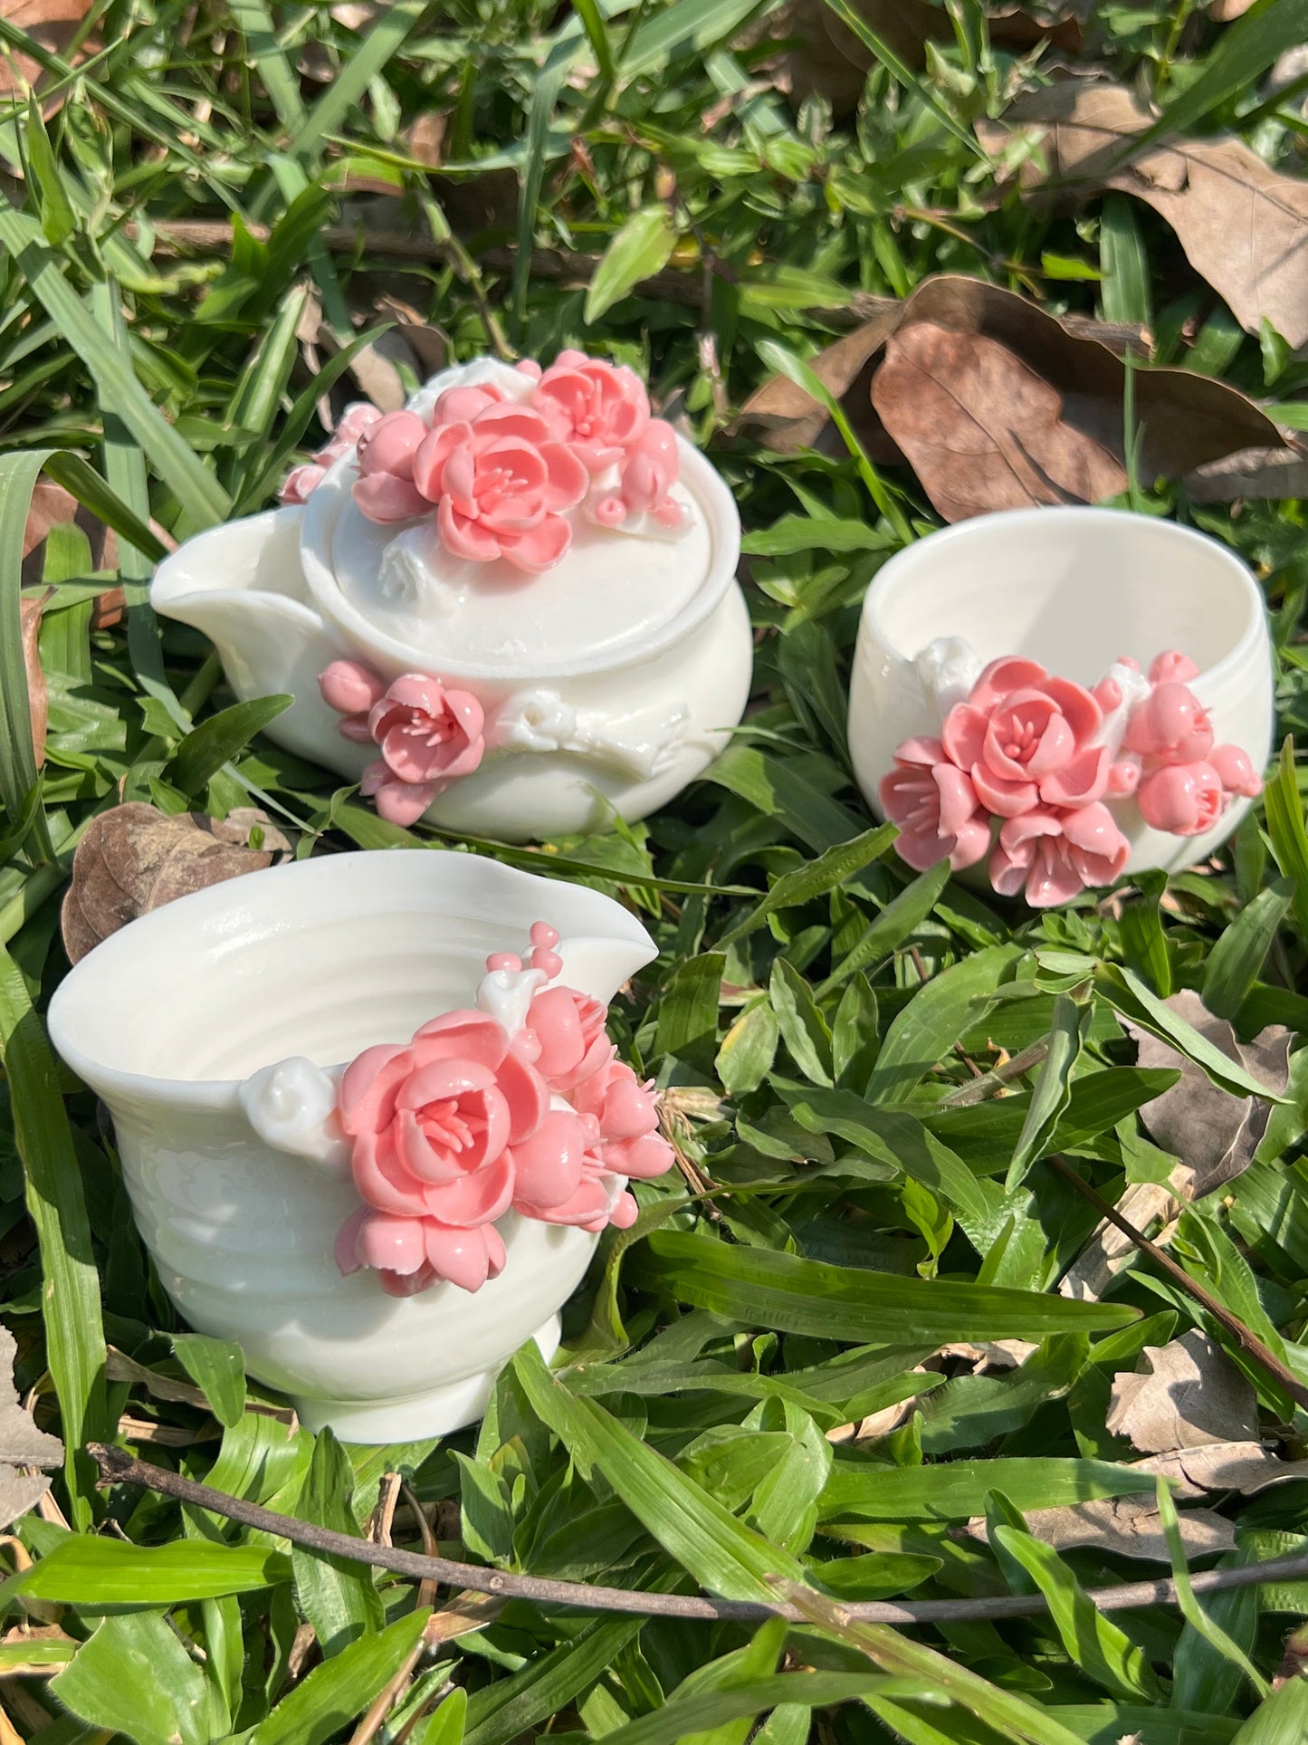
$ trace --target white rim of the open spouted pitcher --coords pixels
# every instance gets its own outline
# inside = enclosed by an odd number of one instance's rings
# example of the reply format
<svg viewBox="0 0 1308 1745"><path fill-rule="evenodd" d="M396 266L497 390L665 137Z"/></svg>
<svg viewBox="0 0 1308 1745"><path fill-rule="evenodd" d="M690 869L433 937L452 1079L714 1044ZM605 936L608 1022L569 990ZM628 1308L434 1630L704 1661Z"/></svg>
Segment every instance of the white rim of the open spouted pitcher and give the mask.
<svg viewBox="0 0 1308 1745"><path fill-rule="evenodd" d="M492 860L487 855L459 853L455 850L394 848L384 853L351 850L345 853L317 855L310 860L290 860L283 866L262 867L256 872L244 872L234 879L221 879L204 890L188 892L185 897L174 897L171 902L127 921L126 927L120 927L106 939L101 939L98 946L73 963L65 979L54 989L45 1012L45 1028L51 1044L65 1064L68 1064L78 1078L98 1092L101 1092L101 1087L112 1085L117 1096L140 1096L153 1105L171 1105L174 1108L185 1106L187 1110L213 1113L235 1112L239 1106L237 1091L244 1084L244 1078L180 1078L176 1075L129 1071L98 1059L89 1047L82 1047L78 1044L78 1012L87 1005L94 1007L98 998L96 989L101 986L103 977L129 979L140 988L140 963L145 944L143 935L150 935L153 941L152 949L157 951L160 946L166 948L169 932L180 930L181 934L194 937L201 928L211 927L218 921L228 909L237 904L244 907L249 904L251 897L265 897L274 888L281 892L290 879L298 879L302 890L305 883L316 881L330 886L335 879L356 881L359 876L364 879L377 876L403 883L408 874L417 874L424 869L436 872L436 876L441 878L446 872L453 872L455 869L462 871L469 866L478 869L478 883L483 890L485 886L497 883L501 886L501 895L511 886L516 886L518 890L544 886L546 890L558 888L572 895L579 895L586 904L595 902L596 906L607 906L610 920L603 930L598 927L596 907L596 925L589 932L574 928L572 932L563 934L558 951L565 961L569 951L577 951L581 946L596 941L603 944L628 946L633 953L640 953L642 961L635 963L628 974L635 974L637 968L644 963L654 961L657 956L654 939L637 916L633 916L612 897L605 897L603 892L596 892L588 885L579 885L574 879L546 878L539 872L527 872L523 867L508 866L502 860ZM272 883L274 879L279 881L276 886ZM488 913L495 906L494 895L481 895L480 900ZM296 899L291 895L276 904L276 907L286 907L290 913L295 904ZM450 904L450 907L452 906L453 904ZM276 913L276 907L269 913ZM366 913L366 906L356 906L356 909L358 913ZM438 904L433 904L433 914L438 918L441 913L448 911L441 911ZM542 913L541 918L549 920L546 913ZM345 920L347 913L342 911L342 925ZM162 941L153 935L162 935ZM262 1064L274 1063L267 1061Z"/></svg>

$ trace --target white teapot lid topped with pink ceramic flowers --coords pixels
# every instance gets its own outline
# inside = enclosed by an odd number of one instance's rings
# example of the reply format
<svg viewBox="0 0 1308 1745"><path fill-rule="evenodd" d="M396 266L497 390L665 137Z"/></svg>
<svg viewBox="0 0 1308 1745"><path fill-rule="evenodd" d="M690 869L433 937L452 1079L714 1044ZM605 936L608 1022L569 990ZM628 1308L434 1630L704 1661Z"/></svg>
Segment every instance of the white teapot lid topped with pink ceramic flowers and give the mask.
<svg viewBox="0 0 1308 1745"><path fill-rule="evenodd" d="M621 656L657 640L715 569L682 450L631 370L581 352L548 372L481 358L363 433L314 492L303 537L352 614L424 661Z"/></svg>

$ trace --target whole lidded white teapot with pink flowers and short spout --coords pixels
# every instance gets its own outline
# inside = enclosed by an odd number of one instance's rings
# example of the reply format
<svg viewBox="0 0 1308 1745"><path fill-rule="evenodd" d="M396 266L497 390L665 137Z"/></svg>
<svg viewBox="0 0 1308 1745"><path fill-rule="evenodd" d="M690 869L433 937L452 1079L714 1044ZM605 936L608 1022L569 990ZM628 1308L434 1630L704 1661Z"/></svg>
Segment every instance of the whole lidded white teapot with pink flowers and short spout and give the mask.
<svg viewBox="0 0 1308 1745"><path fill-rule="evenodd" d="M738 557L731 492L635 372L567 351L347 415L284 508L187 541L152 602L237 698L291 695L269 736L389 822L530 841L640 818L726 747Z"/></svg>

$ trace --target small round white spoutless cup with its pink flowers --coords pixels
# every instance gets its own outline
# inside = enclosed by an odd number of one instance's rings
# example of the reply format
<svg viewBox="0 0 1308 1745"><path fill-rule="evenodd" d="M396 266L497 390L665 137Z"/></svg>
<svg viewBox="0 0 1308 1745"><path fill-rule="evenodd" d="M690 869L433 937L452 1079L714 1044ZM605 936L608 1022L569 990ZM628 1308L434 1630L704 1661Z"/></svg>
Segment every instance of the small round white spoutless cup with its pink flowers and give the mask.
<svg viewBox="0 0 1308 1745"><path fill-rule="evenodd" d="M910 867L1048 907L1210 855L1261 792L1271 689L1263 597L1216 539L1020 510L877 571L849 750Z"/></svg>

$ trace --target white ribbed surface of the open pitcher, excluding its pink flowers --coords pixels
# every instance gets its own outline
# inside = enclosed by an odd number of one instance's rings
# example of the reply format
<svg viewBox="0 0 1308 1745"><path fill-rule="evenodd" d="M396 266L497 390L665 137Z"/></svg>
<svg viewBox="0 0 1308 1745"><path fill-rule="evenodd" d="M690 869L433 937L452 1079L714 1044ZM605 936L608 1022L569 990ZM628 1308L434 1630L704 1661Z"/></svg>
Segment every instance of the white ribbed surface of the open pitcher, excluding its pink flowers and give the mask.
<svg viewBox="0 0 1308 1745"><path fill-rule="evenodd" d="M256 1070L406 1042L471 1005L490 951L560 932L563 981L609 1002L649 963L619 904L473 855L349 853L253 872L133 921L51 1002L54 1045L108 1105L133 1209L187 1321L239 1340L249 1373L349 1441L443 1434L481 1415L495 1373L558 1309L596 1237L509 1213L508 1265L480 1291L394 1298L342 1277L352 1183L269 1148L241 1108Z"/></svg>

